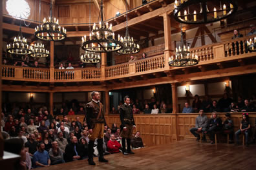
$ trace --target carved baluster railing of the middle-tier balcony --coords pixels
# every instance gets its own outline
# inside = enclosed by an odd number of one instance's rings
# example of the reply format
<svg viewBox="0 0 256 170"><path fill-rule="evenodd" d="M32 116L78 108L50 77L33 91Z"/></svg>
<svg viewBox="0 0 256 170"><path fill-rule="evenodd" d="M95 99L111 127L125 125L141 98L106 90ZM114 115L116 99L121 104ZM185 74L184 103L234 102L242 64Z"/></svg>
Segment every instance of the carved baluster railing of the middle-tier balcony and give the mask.
<svg viewBox="0 0 256 170"><path fill-rule="evenodd" d="M191 48L191 53L198 55L199 64L211 64L215 62L231 61L246 57L253 57L255 53L248 52L246 41L254 35L218 42L197 48ZM74 70L58 70L54 68L28 68L19 66L2 67L3 80L27 80L42 82L76 82L76 81L103 81L111 79L122 79L147 73L174 70L166 65L167 59L164 54L147 59L139 59L125 64L103 68L75 68ZM103 71L103 72L102 72Z"/></svg>

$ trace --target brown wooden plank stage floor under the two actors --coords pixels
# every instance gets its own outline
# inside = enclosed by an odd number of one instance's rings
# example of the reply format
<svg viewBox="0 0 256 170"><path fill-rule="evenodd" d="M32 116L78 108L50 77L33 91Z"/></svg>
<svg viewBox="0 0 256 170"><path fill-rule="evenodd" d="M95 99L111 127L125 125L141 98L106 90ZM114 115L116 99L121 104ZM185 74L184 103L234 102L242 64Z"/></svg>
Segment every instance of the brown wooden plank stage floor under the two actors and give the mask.
<svg viewBox="0 0 256 170"><path fill-rule="evenodd" d="M152 146L133 150L135 155L116 153L106 155L109 163L88 165L87 160L78 160L40 169L174 169L174 170L255 170L256 146L234 146L234 144L200 143L184 140L166 146Z"/></svg>

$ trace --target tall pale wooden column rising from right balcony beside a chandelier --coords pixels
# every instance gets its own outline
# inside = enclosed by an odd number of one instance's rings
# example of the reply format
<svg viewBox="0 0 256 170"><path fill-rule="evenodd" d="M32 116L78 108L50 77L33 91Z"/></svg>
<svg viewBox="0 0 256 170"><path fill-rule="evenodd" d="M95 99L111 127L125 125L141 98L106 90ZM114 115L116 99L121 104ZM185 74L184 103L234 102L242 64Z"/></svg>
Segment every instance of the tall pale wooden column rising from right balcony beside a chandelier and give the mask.
<svg viewBox="0 0 256 170"><path fill-rule="evenodd" d="M168 15L168 12L160 15L164 17L164 59L165 59L165 68L169 69L169 57L172 55L171 51L171 17Z"/></svg>

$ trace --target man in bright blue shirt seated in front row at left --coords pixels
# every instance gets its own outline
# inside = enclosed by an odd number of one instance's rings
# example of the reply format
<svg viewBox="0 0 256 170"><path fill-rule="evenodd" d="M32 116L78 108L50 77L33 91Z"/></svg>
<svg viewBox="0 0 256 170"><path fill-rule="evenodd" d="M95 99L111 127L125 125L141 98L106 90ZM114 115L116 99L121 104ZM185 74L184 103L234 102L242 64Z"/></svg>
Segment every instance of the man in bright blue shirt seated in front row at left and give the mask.
<svg viewBox="0 0 256 170"><path fill-rule="evenodd" d="M50 165L50 156L45 151L45 144L38 144L38 151L34 153L34 165L35 167L47 167Z"/></svg>

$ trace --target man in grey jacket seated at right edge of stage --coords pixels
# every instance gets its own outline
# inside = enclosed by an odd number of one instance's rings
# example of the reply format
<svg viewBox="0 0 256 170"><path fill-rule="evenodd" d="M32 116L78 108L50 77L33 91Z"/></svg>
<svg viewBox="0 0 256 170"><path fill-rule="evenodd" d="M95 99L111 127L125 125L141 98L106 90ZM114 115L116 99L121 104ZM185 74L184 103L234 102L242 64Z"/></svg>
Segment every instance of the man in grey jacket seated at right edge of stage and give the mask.
<svg viewBox="0 0 256 170"><path fill-rule="evenodd" d="M197 141L200 140L200 135L198 133L203 134L203 140L206 140L206 132L208 127L208 118L204 115L204 110L200 109L199 115L195 120L195 127L190 129L190 132L197 138Z"/></svg>

